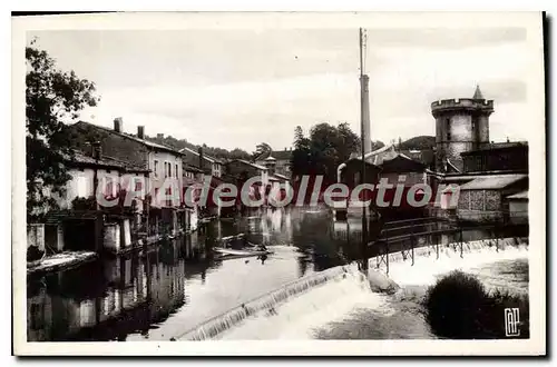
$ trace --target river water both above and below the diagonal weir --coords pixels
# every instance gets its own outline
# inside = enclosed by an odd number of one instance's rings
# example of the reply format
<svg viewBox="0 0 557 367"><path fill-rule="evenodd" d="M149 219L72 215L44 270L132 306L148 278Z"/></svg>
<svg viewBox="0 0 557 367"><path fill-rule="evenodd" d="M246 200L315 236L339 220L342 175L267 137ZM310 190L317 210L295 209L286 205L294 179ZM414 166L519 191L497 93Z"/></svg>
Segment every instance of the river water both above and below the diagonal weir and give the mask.
<svg viewBox="0 0 557 367"><path fill-rule="evenodd" d="M334 224L326 210L263 210L237 221L215 220L204 232L160 244L145 255L104 258L31 278L28 339L179 339L231 308L356 259L360 228L358 221ZM205 257L206 247L242 232L273 254L264 259ZM490 264L477 271L489 277L498 274L494 269L506 268ZM402 295L387 296L369 291L352 278L316 287L277 306L277 315L251 318L218 338L434 337L421 317L424 284L409 284Z"/></svg>

